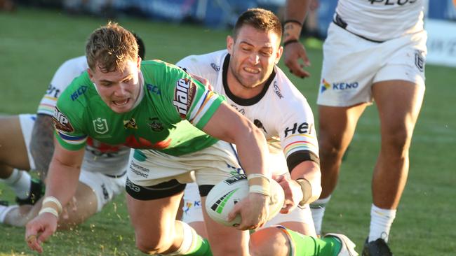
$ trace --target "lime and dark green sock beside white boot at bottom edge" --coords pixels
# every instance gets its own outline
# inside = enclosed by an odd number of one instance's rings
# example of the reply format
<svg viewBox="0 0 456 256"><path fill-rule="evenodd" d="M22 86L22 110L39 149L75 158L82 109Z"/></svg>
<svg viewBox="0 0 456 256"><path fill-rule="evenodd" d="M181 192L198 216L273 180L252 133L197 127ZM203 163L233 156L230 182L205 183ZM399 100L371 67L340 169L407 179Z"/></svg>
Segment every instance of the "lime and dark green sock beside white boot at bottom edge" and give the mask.
<svg viewBox="0 0 456 256"><path fill-rule="evenodd" d="M339 239L330 236L323 239L316 239L312 236L304 236L298 232L287 229L286 227L276 226L281 229L288 237L290 244L290 256L297 255L321 255L335 256L339 254L342 243Z"/></svg>

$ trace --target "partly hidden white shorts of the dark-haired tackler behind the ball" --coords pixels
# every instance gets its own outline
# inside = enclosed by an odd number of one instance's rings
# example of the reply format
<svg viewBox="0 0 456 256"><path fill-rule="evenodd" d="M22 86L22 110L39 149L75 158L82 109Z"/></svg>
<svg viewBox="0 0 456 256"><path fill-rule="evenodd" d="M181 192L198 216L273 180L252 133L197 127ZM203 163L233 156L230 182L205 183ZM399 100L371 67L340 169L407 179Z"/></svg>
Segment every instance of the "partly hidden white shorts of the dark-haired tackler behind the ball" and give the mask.
<svg viewBox="0 0 456 256"><path fill-rule="evenodd" d="M203 222L203 208L201 206L201 197L199 197L198 185L189 183L185 187L184 206L182 207L182 221L186 223ZM288 214L279 213L274 218L266 222L264 227L279 225L283 222L303 222L314 225L310 207L306 204L304 207L296 207L295 210Z"/></svg>

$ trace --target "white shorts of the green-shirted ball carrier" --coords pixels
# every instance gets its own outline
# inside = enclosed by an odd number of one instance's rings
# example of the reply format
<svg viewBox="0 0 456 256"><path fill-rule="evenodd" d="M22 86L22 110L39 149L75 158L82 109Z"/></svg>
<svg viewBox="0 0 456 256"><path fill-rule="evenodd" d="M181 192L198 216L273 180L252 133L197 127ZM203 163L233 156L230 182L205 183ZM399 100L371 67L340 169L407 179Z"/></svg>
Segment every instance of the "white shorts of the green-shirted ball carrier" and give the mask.
<svg viewBox="0 0 456 256"><path fill-rule="evenodd" d="M194 178L192 174L194 173ZM168 180L215 185L243 173L232 144L218 141L209 148L178 157L156 150L135 150L127 176L135 185L150 187Z"/></svg>

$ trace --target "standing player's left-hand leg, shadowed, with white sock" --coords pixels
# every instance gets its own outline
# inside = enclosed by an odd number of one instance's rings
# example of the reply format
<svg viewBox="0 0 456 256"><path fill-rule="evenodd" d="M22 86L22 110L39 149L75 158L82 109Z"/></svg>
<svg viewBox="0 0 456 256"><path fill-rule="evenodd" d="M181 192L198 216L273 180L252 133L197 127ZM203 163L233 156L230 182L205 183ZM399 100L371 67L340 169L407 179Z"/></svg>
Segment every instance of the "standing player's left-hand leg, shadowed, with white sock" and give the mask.
<svg viewBox="0 0 456 256"><path fill-rule="evenodd" d="M350 107L318 106L318 146L321 166L321 196L311 204L316 234L321 234L321 222L326 204L335 190L340 164L353 138L356 123L367 104Z"/></svg>

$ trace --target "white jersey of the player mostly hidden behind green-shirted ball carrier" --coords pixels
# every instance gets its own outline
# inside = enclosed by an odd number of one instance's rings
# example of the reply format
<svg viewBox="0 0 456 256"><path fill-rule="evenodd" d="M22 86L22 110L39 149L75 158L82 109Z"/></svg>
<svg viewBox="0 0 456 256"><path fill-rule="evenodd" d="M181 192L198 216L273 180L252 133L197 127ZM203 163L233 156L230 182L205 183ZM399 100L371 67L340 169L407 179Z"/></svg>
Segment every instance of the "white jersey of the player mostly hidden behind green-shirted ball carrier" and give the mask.
<svg viewBox="0 0 456 256"><path fill-rule="evenodd" d="M51 85L41 99L37 113L53 115L57 99L72 80L88 69L85 56L69 59L55 72ZM88 138L82 169L118 176L126 171L130 148L111 146Z"/></svg>

